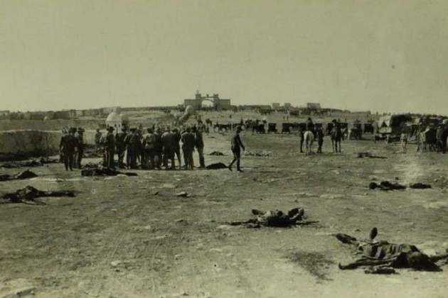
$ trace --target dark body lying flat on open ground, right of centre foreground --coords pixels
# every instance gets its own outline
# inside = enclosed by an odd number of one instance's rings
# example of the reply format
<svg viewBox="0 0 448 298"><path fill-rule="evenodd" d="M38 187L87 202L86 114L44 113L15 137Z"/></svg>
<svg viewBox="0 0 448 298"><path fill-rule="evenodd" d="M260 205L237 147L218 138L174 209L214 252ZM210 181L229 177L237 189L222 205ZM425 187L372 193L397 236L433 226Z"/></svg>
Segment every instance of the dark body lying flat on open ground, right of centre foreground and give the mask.
<svg viewBox="0 0 448 298"><path fill-rule="evenodd" d="M277 228L286 228L290 226L306 226L317 221L302 221L305 210L297 207L291 209L284 214L279 210L260 211L252 209L252 215L257 216L255 219L247 221L232 221L228 224L231 226L246 226L247 228L261 228L262 226L271 226Z"/></svg>

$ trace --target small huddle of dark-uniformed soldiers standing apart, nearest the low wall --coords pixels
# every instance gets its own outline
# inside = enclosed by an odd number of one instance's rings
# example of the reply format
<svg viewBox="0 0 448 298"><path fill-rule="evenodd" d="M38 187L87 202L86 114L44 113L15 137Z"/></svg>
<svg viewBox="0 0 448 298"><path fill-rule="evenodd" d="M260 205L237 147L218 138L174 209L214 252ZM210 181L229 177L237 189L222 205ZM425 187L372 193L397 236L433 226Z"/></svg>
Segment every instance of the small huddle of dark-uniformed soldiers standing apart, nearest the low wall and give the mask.
<svg viewBox="0 0 448 298"><path fill-rule="evenodd" d="M84 154L84 129L68 128L63 129L63 136L60 138L59 153L60 161L64 162L65 170L81 168L82 155Z"/></svg>

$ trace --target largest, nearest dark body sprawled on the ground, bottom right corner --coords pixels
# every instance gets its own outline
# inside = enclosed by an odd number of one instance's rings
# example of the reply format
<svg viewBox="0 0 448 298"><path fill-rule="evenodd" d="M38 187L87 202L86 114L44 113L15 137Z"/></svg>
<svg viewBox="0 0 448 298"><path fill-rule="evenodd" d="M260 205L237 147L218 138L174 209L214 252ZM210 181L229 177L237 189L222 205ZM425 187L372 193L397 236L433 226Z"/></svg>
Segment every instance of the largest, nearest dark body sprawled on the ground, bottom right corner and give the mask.
<svg viewBox="0 0 448 298"><path fill-rule="evenodd" d="M370 274L393 274L394 268L413 268L421 271L441 271L436 262L448 259L448 253L428 256L421 253L415 245L407 243L395 244L388 241L374 241L378 230L370 231L370 239L358 240L343 233L337 233L336 238L342 243L352 245L356 248L356 254L361 258L353 263L341 265L339 269L348 270L358 267L368 267L366 273Z"/></svg>

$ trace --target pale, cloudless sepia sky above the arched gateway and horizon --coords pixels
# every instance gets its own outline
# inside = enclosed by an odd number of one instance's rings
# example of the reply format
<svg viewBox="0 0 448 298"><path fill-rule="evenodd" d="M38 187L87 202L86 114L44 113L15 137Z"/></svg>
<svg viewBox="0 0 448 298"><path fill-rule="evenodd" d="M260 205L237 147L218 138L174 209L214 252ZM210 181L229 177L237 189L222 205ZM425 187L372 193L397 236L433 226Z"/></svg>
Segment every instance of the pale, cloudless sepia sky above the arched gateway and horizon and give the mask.
<svg viewBox="0 0 448 298"><path fill-rule="evenodd" d="M319 102L448 114L448 1L1 0L0 110Z"/></svg>

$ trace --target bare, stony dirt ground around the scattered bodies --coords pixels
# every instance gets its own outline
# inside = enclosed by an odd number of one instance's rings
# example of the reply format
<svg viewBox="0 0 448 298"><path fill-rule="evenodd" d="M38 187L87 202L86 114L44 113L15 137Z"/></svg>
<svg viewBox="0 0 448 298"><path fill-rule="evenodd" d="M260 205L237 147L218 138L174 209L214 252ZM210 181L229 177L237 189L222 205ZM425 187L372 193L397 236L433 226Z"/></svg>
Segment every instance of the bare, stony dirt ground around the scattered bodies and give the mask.
<svg viewBox="0 0 448 298"><path fill-rule="evenodd" d="M205 135L206 163L232 159L230 133ZM346 140L341 154L299 153L295 134L242 133L244 172L135 170L137 177L82 177L63 165L0 182L74 190L45 205L0 204L0 297L447 297L442 272L366 275L334 233L448 248L447 155L401 154L398 144ZM316 148L314 148L316 150ZM221 151L226 156L207 155ZM370 152L385 159L358 158ZM87 159L85 162L99 160ZM197 160L196 160L197 162ZM25 169L1 169L16 173ZM372 181L426 182L432 189L383 192ZM188 197L177 197L187 192ZM305 209L318 221L294 228L245 228L229 221L251 209Z"/></svg>

